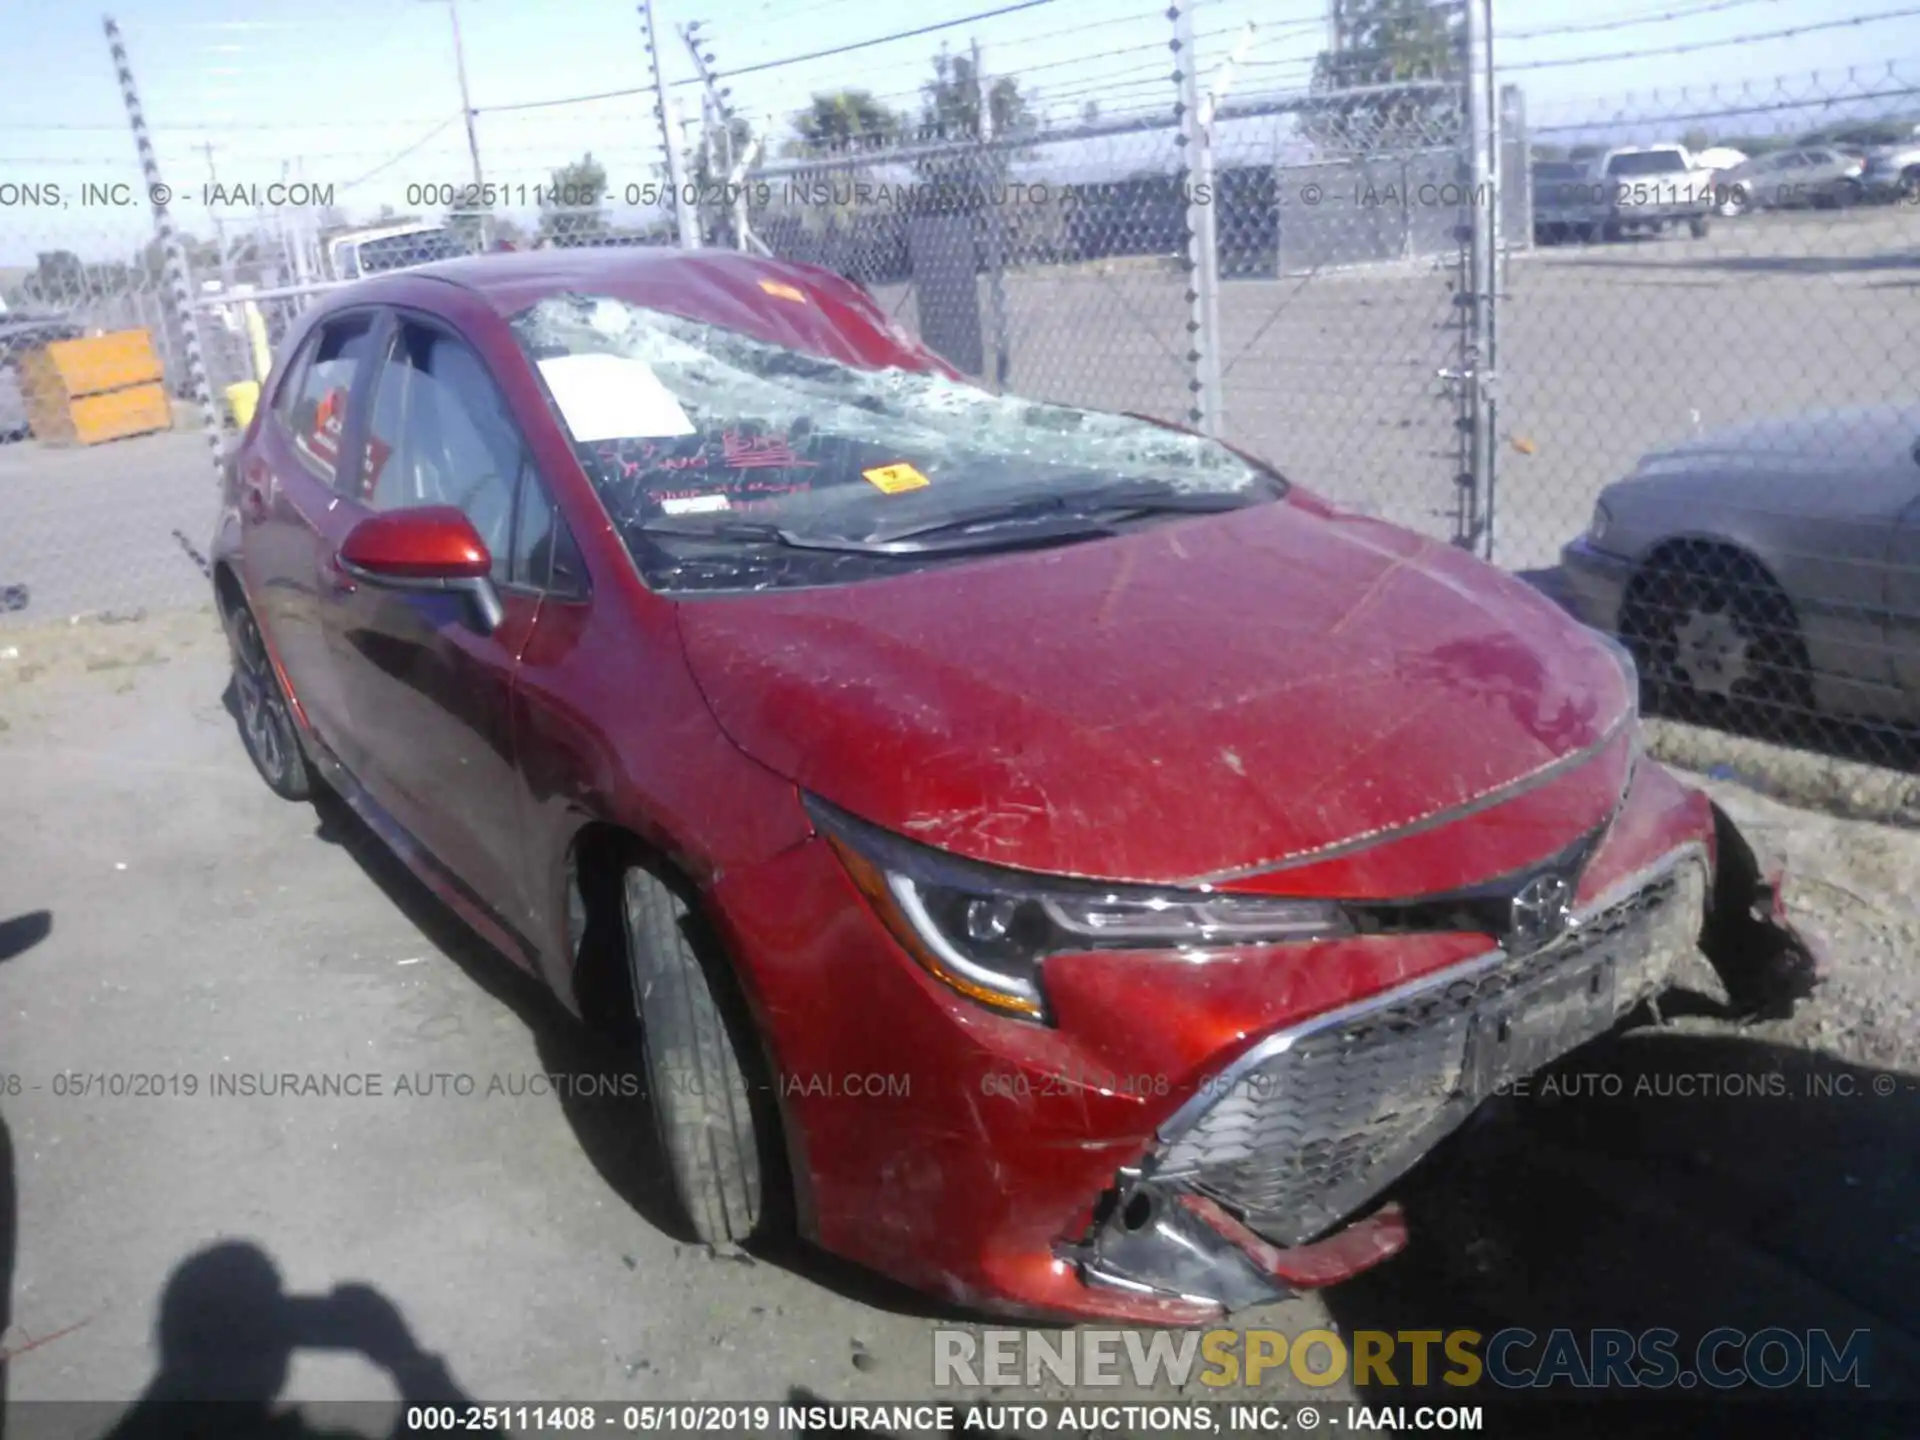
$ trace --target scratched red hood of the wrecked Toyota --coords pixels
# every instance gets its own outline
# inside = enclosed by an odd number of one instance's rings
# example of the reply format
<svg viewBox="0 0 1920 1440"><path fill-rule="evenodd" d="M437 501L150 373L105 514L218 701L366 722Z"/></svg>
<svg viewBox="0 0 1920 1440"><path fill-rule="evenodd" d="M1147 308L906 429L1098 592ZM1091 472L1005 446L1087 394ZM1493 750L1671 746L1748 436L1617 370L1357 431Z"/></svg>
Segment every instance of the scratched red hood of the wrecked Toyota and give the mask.
<svg viewBox="0 0 1920 1440"><path fill-rule="evenodd" d="M678 609L718 724L762 764L956 854L1116 881L1430 822L1634 707L1521 582L1315 501Z"/></svg>

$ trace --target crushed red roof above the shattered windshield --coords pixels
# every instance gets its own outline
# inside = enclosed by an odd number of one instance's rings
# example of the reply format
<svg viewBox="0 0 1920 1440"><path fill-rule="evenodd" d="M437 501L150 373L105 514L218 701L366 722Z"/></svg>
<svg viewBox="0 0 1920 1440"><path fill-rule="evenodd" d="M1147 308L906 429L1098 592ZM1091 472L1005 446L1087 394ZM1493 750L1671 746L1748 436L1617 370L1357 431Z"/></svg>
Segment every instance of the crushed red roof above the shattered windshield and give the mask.
<svg viewBox="0 0 1920 1440"><path fill-rule="evenodd" d="M419 298L422 282L457 284L505 319L557 296L607 296L849 365L960 378L852 280L733 250L576 246L461 255L363 280L338 292L336 303L403 301Z"/></svg>

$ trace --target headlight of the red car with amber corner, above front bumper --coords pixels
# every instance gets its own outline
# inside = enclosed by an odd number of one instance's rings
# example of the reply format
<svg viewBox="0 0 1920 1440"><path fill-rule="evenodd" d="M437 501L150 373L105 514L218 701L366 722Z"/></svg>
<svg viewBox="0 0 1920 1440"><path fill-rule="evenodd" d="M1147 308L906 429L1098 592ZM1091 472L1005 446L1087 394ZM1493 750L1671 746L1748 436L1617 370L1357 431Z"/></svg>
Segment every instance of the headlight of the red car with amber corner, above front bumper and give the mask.
<svg viewBox="0 0 1920 1440"><path fill-rule="evenodd" d="M1052 879L962 860L854 820L806 808L900 947L970 1000L1046 1020L1041 968L1066 950L1194 950L1352 935L1338 904L1265 895Z"/></svg>

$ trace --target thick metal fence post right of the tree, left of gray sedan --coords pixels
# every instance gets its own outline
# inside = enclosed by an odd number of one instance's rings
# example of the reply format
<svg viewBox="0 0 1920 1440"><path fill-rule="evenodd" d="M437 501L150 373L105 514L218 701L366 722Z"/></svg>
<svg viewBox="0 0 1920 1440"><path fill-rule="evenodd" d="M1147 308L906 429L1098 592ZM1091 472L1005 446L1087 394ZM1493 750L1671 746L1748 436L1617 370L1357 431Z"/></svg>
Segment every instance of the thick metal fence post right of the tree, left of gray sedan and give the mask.
<svg viewBox="0 0 1920 1440"><path fill-rule="evenodd" d="M1494 388L1498 384L1496 303L1500 250L1500 119L1494 106L1494 0L1467 0L1467 156L1471 209L1469 349L1463 384L1473 420L1469 463L1480 505L1484 559L1494 559Z"/></svg>

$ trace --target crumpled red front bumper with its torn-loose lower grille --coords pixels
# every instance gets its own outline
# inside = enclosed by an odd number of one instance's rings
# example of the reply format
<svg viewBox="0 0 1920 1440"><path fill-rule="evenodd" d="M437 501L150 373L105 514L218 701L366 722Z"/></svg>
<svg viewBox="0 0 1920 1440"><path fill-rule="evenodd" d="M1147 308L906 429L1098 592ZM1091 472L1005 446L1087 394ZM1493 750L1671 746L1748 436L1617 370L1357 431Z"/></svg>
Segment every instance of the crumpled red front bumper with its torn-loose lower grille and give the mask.
<svg viewBox="0 0 1920 1440"><path fill-rule="evenodd" d="M1678 954L1705 950L1749 1012L1805 993L1778 874L1661 766L1628 789L1578 939L1073 954L1048 966L1056 1025L933 981L824 841L722 877L774 1069L889 1077L780 1087L804 1235L968 1309L1116 1323L1204 1323L1377 1265L1419 1240L1382 1204L1394 1181L1503 1077L1657 995Z"/></svg>

